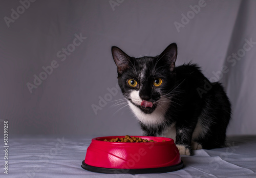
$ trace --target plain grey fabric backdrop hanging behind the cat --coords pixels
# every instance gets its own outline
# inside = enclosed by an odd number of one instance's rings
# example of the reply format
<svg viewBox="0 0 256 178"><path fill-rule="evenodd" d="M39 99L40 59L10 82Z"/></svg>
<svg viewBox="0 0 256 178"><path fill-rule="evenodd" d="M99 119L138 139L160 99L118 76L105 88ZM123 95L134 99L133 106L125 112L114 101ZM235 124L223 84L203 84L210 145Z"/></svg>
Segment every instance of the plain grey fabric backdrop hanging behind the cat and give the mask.
<svg viewBox="0 0 256 178"><path fill-rule="evenodd" d="M140 135L131 110L118 105L111 46L139 57L176 42L177 65L196 62L223 82L233 106L228 134L255 134L255 7L231 0L1 1L0 121L9 120L10 134ZM35 75L42 78L36 84Z"/></svg>

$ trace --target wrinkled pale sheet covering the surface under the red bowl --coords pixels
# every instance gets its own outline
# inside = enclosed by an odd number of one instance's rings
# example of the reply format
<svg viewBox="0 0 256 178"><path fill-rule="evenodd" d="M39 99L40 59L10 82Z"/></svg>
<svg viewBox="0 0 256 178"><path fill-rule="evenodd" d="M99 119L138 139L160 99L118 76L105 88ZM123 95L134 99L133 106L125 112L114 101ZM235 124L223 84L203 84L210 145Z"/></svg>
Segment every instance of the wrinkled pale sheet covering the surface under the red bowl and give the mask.
<svg viewBox="0 0 256 178"><path fill-rule="evenodd" d="M229 137L226 148L182 156L185 167L175 172L136 175L83 170L81 162L92 138L13 136L7 177L256 177L256 136Z"/></svg>

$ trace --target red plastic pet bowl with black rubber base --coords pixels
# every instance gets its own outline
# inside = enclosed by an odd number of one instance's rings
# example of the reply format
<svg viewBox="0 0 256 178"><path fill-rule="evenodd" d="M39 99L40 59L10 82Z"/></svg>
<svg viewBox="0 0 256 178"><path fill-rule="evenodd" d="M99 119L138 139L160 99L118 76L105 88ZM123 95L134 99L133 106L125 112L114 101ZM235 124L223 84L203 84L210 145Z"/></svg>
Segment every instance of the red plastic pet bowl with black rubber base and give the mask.
<svg viewBox="0 0 256 178"><path fill-rule="evenodd" d="M104 142L125 136L93 138L82 168L100 173L162 173L181 169L184 165L174 140L164 137L140 137L147 143ZM163 142L165 140L165 142Z"/></svg>

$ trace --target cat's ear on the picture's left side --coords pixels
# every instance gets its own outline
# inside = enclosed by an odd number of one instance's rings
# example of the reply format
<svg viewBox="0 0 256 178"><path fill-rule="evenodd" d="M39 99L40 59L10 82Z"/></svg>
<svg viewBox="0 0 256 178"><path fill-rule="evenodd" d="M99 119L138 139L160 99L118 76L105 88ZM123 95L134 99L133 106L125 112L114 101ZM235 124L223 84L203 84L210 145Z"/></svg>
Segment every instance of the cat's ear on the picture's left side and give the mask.
<svg viewBox="0 0 256 178"><path fill-rule="evenodd" d="M117 72L118 74L122 74L125 70L129 68L129 62L131 58L118 47L112 47L111 51L113 59L117 66Z"/></svg>

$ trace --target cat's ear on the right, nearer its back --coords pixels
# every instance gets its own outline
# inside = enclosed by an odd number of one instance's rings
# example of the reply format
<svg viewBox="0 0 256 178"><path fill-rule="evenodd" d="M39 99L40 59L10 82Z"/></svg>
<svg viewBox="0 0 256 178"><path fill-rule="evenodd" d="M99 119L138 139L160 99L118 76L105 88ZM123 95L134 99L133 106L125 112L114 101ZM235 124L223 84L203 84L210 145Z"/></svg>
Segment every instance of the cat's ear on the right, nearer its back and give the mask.
<svg viewBox="0 0 256 178"><path fill-rule="evenodd" d="M175 69L175 62L177 59L177 44L169 44L167 48L160 54L160 58L167 60L170 71L172 72Z"/></svg>

